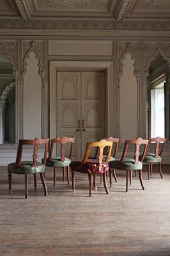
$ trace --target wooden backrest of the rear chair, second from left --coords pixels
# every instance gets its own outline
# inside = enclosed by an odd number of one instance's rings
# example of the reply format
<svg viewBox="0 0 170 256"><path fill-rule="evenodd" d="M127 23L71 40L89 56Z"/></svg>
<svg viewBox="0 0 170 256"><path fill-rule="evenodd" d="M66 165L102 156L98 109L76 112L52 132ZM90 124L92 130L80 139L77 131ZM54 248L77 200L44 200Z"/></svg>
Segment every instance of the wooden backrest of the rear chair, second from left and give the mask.
<svg viewBox="0 0 170 256"><path fill-rule="evenodd" d="M51 160L52 158L52 154L53 154L53 150L54 150L54 145L56 143L60 143L61 145L61 155L60 155L60 160L61 162L65 161L65 149L66 149L66 143L70 143L70 152L69 152L69 159L72 159L72 154L73 154L73 148L74 148L74 142L75 142L75 138L68 138L66 136L63 136L61 138L54 138L50 140L50 152L49 152L49 157L48 157L48 161Z"/></svg>

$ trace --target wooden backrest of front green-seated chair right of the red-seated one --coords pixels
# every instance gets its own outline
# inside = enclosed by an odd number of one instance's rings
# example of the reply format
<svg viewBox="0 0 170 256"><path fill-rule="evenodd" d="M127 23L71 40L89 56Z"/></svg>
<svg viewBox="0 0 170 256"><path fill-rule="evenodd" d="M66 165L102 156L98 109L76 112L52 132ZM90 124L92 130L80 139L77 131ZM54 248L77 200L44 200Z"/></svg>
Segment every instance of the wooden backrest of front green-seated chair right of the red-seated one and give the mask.
<svg viewBox="0 0 170 256"><path fill-rule="evenodd" d="M143 162L144 156L146 155L148 142L149 142L148 140L143 140L143 138L137 138L135 140L126 140L125 141L125 146L124 146L124 149L123 149L123 153L122 153L122 156L121 156L121 159L120 159L120 163L122 163L123 160L125 159L125 157L127 157L128 149L132 145L135 146L134 147L135 164L139 163L139 155L140 155L140 161ZM144 145L144 147L141 148L141 145Z"/></svg>

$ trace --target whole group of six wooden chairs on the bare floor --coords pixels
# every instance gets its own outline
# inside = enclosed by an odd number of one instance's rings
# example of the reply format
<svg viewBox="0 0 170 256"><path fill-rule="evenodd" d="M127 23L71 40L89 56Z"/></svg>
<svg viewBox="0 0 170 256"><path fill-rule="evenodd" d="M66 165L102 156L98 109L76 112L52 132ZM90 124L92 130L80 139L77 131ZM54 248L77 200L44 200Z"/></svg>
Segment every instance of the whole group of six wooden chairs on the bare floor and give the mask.
<svg viewBox="0 0 170 256"><path fill-rule="evenodd" d="M65 181L65 170L66 178L68 184L70 184L69 179L69 168L72 172L72 189L75 191L75 172L86 173L88 174L89 179L89 196L91 196L91 175L93 175L93 186L97 189L96 185L96 175L100 174L100 182L104 183L104 188L106 193L109 193L107 188L106 177L109 173L110 184L112 187L112 176L117 182L115 170L125 170L127 171L126 179L126 191L128 191L128 181L130 185L132 183L132 171L139 172L139 180L141 186L143 186L142 180L142 168L143 162L148 163L148 179L152 173L153 163L158 163L160 176L162 177L161 170L161 155L164 150L166 139L165 138L150 138L149 140L143 140L142 138L137 138L135 140L126 140L125 146L123 149L123 154L120 159L116 159L118 153L119 138L103 138L99 141L89 142L86 145L86 151L83 159L77 161L72 161L73 148L75 139L74 138L54 138L50 141L50 150L49 150L49 139L41 140L35 138L35 140L19 140L19 146L17 150L17 158L15 163L8 164L8 180L9 180L9 189L10 194L12 194L12 174L22 174L25 175L25 198L27 198L27 175L34 175L34 186L36 191L36 173L40 173L40 178L42 180L42 185L44 189L44 195L47 196L47 186L45 184L45 166L52 167L54 169L53 184L56 184L56 170L57 168L63 168L63 181ZM61 145L61 155L53 156L54 145L60 143ZM69 156L65 156L66 144L70 143L70 153ZM149 152L150 145L155 143L155 148L153 152ZM22 161L23 148L33 146L33 161ZM45 145L44 156L42 163L38 162L38 150L42 148L42 145ZM114 153L111 156L112 146L114 145ZM144 145L144 147L141 147ZM161 145L161 147L160 147ZM134 146L134 148L132 148ZM96 148L95 155L91 154L91 150L94 152ZM153 148L153 147L152 147ZM134 150L134 157L128 157L128 150ZM49 156L47 157L49 151Z"/></svg>

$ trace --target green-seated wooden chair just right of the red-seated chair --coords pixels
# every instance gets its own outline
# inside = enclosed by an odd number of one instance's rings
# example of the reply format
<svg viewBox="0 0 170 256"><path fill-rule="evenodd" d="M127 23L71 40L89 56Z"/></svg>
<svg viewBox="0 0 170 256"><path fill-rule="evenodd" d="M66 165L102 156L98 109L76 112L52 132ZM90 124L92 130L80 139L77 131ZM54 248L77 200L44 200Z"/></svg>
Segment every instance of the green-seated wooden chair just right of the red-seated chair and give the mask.
<svg viewBox="0 0 170 256"><path fill-rule="evenodd" d="M141 145L144 145L142 148ZM121 156L121 159L115 159L114 161L109 161L109 170L110 170L110 183L111 183L111 176L112 176L112 169L116 170L125 170L127 171L127 180L126 180L126 192L128 191L128 175L130 174L130 186L132 183L132 171L138 171L139 172L139 180L141 182L141 186L144 189L143 186L143 180L142 180L142 168L143 168L143 158L146 154L148 145L148 140L143 140L142 138L137 138L135 140L126 140L125 146L123 149L123 154ZM127 158L127 154L129 152L134 152L133 156L134 158ZM139 161L139 154L141 151L141 161Z"/></svg>

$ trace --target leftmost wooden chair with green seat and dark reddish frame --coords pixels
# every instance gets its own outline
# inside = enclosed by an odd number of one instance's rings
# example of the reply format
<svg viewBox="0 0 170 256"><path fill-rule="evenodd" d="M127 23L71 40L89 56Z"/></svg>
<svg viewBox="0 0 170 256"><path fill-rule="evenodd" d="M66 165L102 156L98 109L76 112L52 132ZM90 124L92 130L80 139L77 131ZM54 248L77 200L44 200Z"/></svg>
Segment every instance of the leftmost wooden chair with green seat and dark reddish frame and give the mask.
<svg viewBox="0 0 170 256"><path fill-rule="evenodd" d="M43 157L43 163L40 163L38 162L38 150L42 145L45 146L44 157ZM27 146L31 146L31 148L33 148L32 161L22 161L23 150ZM35 138L35 140L19 140L16 161L15 163L8 164L8 180L9 180L10 195L12 194L12 173L22 174L25 176L25 198L27 198L27 175L28 174L34 175L35 191L36 191L36 173L40 173L44 194L45 196L47 196L47 186L45 184L43 173L45 172L45 161L47 159L48 148L49 148L49 139L41 140L39 138Z"/></svg>

